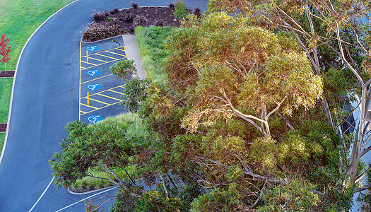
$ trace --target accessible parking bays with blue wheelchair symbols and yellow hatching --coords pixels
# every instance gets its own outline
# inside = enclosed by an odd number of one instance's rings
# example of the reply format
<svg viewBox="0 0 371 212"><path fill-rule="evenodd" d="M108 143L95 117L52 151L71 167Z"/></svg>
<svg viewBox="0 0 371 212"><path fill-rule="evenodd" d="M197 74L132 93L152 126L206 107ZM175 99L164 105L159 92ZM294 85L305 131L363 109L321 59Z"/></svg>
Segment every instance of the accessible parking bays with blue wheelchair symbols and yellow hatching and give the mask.
<svg viewBox="0 0 371 212"><path fill-rule="evenodd" d="M95 124L107 116L124 112L124 81L112 75L110 66L126 58L122 37L80 46L79 120Z"/></svg>

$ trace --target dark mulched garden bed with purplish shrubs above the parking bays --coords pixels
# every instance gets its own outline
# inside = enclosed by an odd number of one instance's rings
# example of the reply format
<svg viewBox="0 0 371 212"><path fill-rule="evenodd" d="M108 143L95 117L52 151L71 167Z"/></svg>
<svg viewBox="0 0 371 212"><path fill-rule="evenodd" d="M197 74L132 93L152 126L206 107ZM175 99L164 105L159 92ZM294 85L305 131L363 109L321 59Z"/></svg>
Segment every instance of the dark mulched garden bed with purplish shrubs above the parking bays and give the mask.
<svg viewBox="0 0 371 212"><path fill-rule="evenodd" d="M134 34L134 28L138 25L179 26L179 20L174 17L173 11L174 8L170 6L147 6L96 12L93 14L94 22L83 33L83 41L93 42L117 35ZM199 8L188 12L201 16Z"/></svg>

